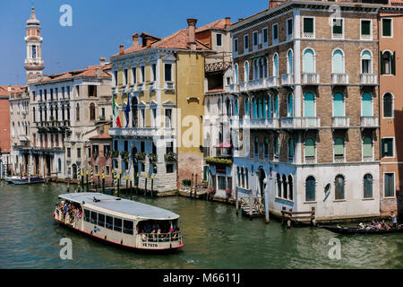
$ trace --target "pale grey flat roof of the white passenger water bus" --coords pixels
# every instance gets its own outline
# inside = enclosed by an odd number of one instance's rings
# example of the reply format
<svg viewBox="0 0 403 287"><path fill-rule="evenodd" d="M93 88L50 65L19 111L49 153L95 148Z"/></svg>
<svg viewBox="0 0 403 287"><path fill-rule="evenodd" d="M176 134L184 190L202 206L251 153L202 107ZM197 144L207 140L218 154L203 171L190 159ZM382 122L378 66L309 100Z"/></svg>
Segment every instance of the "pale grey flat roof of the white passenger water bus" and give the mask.
<svg viewBox="0 0 403 287"><path fill-rule="evenodd" d="M166 209L149 204L141 204L116 196L107 196L100 193L72 193L59 195L58 197L81 204L83 207L89 207L94 210L99 210L99 208L102 208L114 213L132 215L136 220L174 220L179 218L179 215ZM94 197L97 200L94 200Z"/></svg>

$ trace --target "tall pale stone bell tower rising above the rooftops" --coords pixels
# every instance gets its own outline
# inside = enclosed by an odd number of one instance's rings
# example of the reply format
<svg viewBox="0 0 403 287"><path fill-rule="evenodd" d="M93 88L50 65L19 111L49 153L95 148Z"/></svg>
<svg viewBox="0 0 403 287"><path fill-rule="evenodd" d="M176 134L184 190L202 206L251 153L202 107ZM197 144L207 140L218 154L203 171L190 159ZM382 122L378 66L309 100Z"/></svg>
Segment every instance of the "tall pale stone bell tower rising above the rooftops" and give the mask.
<svg viewBox="0 0 403 287"><path fill-rule="evenodd" d="M40 37L40 23L35 16L35 9L32 7L30 19L27 21L25 29L27 34L25 42L27 43L27 57L25 59L25 71L27 75L27 84L37 82L42 79L42 71L45 68L42 60L42 37Z"/></svg>

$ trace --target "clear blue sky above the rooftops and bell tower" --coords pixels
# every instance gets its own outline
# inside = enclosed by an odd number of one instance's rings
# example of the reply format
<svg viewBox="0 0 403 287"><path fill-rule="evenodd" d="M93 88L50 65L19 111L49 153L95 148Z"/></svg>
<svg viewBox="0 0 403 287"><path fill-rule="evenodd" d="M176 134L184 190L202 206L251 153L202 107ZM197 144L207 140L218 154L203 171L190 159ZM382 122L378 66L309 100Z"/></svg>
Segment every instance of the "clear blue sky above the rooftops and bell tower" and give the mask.
<svg viewBox="0 0 403 287"><path fill-rule="evenodd" d="M59 8L70 4L73 26L62 27ZM119 44L131 45L133 32L165 37L219 18L231 22L266 9L269 0L0 0L0 85L25 84L25 22L31 7L42 27L45 74L79 69L116 54Z"/></svg>

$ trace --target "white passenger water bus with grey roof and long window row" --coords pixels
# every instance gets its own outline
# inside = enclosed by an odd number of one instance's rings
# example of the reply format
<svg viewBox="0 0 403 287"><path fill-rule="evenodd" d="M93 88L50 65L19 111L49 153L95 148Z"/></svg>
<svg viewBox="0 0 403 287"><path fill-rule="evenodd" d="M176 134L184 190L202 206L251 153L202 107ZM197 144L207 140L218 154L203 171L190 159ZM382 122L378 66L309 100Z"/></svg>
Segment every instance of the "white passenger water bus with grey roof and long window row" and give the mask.
<svg viewBox="0 0 403 287"><path fill-rule="evenodd" d="M165 209L100 193L58 196L56 222L126 248L175 250L184 243L179 215Z"/></svg>

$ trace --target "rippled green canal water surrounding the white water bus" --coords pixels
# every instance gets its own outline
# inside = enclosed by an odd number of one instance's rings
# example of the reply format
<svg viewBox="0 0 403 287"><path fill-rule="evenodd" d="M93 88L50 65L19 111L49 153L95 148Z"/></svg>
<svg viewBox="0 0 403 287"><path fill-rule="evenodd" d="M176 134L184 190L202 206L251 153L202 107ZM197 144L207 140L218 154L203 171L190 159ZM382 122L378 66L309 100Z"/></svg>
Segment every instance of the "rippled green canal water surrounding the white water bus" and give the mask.
<svg viewBox="0 0 403 287"><path fill-rule="evenodd" d="M184 248L139 254L106 246L57 225L53 207L63 184L0 183L0 268L403 268L403 236L343 236L314 227L236 216L233 205L180 196L134 196L179 214ZM73 259L59 257L60 239L73 242ZM339 239L341 257L330 259ZM334 254L333 252L330 252Z"/></svg>

